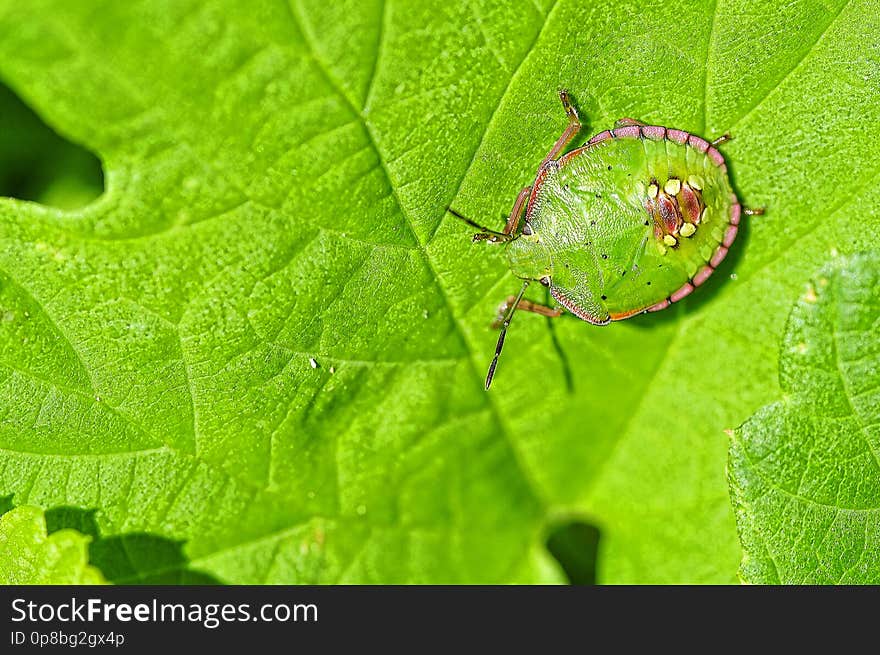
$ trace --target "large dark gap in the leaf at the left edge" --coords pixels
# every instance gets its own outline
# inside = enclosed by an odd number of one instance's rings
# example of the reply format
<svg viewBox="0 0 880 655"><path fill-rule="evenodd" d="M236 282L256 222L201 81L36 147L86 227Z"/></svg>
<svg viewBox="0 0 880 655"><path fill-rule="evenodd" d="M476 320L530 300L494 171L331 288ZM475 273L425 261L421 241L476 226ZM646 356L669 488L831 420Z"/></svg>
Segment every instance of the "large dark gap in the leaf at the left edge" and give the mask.
<svg viewBox="0 0 880 655"><path fill-rule="evenodd" d="M103 192L100 160L59 136L0 82L0 196L70 210Z"/></svg>

